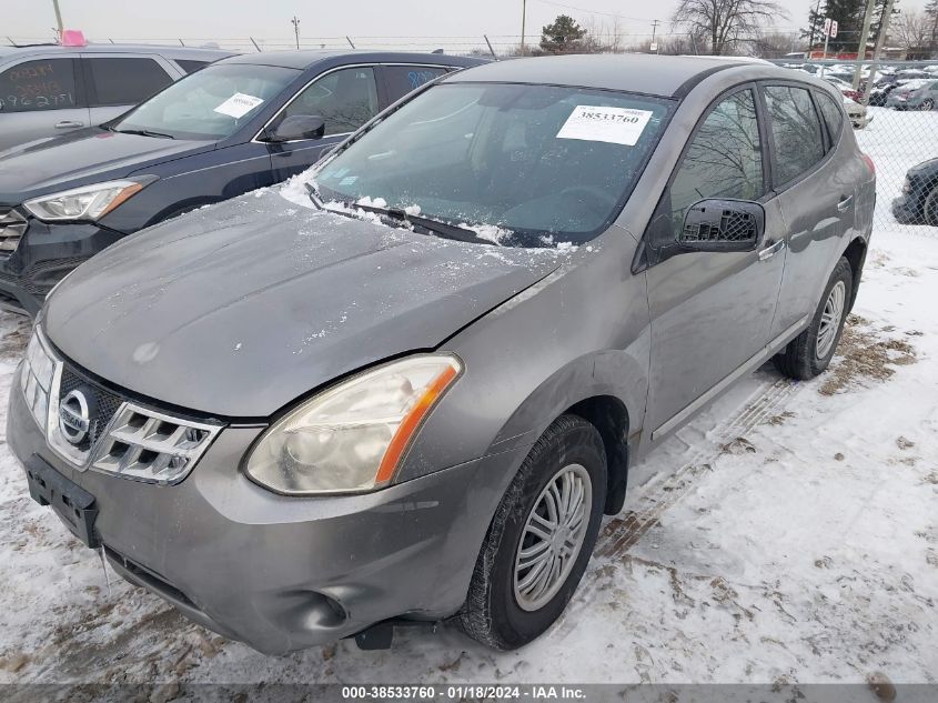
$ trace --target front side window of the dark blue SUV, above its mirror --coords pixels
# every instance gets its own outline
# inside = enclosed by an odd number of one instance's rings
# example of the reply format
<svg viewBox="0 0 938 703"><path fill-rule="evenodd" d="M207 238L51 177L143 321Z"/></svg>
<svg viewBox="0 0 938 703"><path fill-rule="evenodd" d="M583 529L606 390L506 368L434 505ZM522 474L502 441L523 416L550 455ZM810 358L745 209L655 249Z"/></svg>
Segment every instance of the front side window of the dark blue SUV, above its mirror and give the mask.
<svg viewBox="0 0 938 703"><path fill-rule="evenodd" d="M307 86L283 111L283 117L317 114L325 133L354 132L377 114L374 69L349 68L326 73Z"/></svg>

